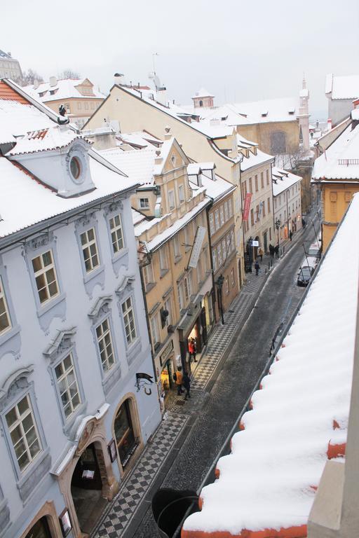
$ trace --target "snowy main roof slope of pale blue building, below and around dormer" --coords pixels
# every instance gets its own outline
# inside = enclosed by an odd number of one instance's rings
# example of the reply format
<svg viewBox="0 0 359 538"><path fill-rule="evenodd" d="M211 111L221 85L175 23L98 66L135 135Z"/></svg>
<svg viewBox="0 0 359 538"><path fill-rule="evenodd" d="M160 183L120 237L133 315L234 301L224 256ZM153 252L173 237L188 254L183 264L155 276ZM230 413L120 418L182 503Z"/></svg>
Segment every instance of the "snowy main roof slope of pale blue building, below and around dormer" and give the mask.
<svg viewBox="0 0 359 538"><path fill-rule="evenodd" d="M90 157L90 172L96 186L94 191L61 198L22 167L0 157L0 237L137 185L137 181L113 172L93 157Z"/></svg>

